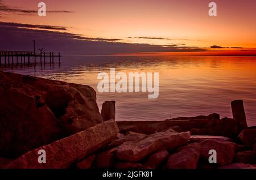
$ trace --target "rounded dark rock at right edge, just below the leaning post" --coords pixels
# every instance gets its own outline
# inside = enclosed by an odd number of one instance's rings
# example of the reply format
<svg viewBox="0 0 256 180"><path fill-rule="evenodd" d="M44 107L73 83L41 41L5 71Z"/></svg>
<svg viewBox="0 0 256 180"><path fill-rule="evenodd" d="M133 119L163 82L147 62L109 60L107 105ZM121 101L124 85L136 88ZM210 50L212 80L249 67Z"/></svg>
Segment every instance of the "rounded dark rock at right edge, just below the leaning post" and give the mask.
<svg viewBox="0 0 256 180"><path fill-rule="evenodd" d="M253 147L256 143L256 128L246 128L238 135L238 138L246 147Z"/></svg>

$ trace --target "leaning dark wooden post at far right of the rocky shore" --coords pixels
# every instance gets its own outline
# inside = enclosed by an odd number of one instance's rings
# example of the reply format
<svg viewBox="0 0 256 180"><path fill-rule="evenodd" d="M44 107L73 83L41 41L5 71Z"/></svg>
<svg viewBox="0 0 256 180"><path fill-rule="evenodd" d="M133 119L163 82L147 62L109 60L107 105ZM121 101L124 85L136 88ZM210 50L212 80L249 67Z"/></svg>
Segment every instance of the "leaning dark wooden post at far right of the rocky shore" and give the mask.
<svg viewBox="0 0 256 180"><path fill-rule="evenodd" d="M245 109L243 108L243 101L236 100L231 102L233 118L237 120L240 126L240 131L247 127Z"/></svg>

